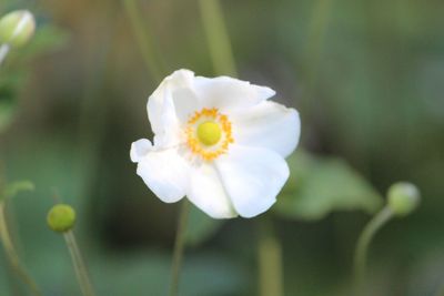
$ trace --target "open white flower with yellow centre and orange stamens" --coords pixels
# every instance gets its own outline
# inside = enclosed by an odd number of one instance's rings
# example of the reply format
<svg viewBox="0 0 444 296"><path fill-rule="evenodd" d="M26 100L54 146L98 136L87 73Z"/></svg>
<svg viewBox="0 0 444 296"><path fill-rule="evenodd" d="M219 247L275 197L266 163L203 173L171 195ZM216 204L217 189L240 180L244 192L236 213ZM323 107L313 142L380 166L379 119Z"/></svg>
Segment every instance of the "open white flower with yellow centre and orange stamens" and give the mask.
<svg viewBox="0 0 444 296"><path fill-rule="evenodd" d="M256 216L289 177L284 160L297 145L294 109L275 92L229 76L179 70L148 100L154 144L131 146L138 175L165 203L186 197L214 218Z"/></svg>

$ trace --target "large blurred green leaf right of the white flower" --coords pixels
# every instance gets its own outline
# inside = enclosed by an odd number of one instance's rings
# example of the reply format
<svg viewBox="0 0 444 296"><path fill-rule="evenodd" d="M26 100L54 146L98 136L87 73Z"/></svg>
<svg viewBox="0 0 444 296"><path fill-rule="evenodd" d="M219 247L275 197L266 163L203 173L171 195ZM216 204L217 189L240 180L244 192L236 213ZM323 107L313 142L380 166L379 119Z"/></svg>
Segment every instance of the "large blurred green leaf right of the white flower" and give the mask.
<svg viewBox="0 0 444 296"><path fill-rule="evenodd" d="M297 152L289 159L291 175L275 211L287 217L320 220L339 210L373 213L381 195L350 165L334 157Z"/></svg>

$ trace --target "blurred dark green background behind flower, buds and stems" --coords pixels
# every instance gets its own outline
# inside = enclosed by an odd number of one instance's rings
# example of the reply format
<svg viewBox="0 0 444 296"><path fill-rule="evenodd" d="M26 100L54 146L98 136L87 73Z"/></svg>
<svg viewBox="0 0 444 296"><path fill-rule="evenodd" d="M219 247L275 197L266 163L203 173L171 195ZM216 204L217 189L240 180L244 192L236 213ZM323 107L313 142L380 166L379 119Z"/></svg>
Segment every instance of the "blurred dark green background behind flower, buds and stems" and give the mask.
<svg viewBox="0 0 444 296"><path fill-rule="evenodd" d="M406 180L423 202L377 234L369 295L438 296L444 2L220 2L239 76L270 85L302 118L292 178L264 215L282 242L285 295L352 295L355 241L379 194ZM216 74L198 0L137 4L164 75ZM165 295L178 206L153 196L129 159L131 142L151 137L145 103L158 81L123 2L2 0L0 14L23 8L38 33L0 69L0 118L11 116L0 132L3 174L37 187L9 203L21 257L44 295L80 295L64 242L46 225L58 192L79 213L99 295ZM215 222L194 211L182 295L258 295L261 220ZM20 286L1 252L0 295Z"/></svg>

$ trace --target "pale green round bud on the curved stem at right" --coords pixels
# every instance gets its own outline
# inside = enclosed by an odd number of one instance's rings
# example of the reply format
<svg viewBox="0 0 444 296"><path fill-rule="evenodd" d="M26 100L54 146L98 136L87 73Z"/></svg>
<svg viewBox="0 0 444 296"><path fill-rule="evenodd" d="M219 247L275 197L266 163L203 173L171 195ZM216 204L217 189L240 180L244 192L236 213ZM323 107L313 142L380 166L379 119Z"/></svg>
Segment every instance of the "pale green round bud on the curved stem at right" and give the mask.
<svg viewBox="0 0 444 296"><path fill-rule="evenodd" d="M389 206L396 216L406 216L420 204L421 195L417 187L407 182L398 182L390 186Z"/></svg>

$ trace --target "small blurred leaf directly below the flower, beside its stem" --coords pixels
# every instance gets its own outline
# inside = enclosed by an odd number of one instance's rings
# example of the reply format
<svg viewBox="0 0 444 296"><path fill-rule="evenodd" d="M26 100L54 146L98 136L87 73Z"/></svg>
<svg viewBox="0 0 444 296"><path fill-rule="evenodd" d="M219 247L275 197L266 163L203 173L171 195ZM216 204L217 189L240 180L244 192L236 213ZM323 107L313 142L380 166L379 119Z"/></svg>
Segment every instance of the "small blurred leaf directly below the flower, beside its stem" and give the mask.
<svg viewBox="0 0 444 296"><path fill-rule="evenodd" d="M199 245L222 226L223 220L211 218L198 207L191 206L188 223L186 243Z"/></svg>

